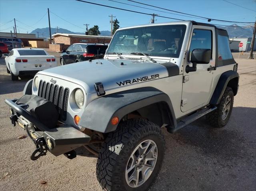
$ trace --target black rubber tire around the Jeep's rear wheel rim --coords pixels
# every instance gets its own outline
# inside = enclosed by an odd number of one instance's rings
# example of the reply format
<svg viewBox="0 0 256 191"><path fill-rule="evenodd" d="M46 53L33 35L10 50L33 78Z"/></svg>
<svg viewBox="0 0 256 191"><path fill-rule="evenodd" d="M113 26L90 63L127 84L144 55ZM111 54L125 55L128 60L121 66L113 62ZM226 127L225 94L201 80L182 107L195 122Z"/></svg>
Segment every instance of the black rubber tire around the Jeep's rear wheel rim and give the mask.
<svg viewBox="0 0 256 191"><path fill-rule="evenodd" d="M217 109L214 110L213 112L210 112L209 114L206 114L206 119L208 120L208 123L214 127L214 128L222 128L225 125L222 124L221 120L221 114L222 114L222 105L225 103L226 101L226 96L232 92L232 101L231 101L231 105L230 105L230 111L228 114L228 117L226 118L226 120L228 121L233 109L233 103L234 103L234 93L232 88L230 87L226 87L226 90L224 91L224 94L220 100L220 103L217 106Z"/></svg>

